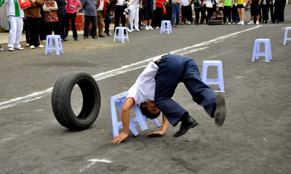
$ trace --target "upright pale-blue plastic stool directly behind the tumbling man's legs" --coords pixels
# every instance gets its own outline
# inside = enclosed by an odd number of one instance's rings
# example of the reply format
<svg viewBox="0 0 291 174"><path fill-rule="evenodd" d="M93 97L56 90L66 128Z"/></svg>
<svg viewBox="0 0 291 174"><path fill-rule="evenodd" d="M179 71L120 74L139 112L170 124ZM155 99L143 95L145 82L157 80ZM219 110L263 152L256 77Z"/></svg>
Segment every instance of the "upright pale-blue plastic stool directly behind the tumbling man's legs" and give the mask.
<svg viewBox="0 0 291 174"><path fill-rule="evenodd" d="M217 79L207 79L208 66L217 66ZM220 60L204 60L202 65L202 82L206 85L219 85L220 92L224 92L222 62Z"/></svg>

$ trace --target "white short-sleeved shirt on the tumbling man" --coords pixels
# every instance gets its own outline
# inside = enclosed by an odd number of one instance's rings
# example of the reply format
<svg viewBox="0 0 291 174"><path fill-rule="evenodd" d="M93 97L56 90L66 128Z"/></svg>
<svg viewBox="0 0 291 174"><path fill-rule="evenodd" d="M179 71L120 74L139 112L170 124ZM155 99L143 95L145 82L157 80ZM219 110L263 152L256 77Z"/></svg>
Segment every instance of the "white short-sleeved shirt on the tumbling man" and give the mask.
<svg viewBox="0 0 291 174"><path fill-rule="evenodd" d="M128 90L126 98L134 99L134 106L143 102L154 101L155 98L155 75L159 67L155 64L155 61L160 57L155 57L152 62L145 67L145 70L139 75L134 85Z"/></svg>

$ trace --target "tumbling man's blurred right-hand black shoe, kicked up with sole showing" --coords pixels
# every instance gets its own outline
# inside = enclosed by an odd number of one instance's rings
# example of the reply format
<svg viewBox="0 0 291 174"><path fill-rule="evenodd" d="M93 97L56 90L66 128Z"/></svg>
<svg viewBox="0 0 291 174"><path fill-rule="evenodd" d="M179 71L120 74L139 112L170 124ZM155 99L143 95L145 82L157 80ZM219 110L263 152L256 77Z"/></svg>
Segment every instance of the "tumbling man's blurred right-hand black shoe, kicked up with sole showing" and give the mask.
<svg viewBox="0 0 291 174"><path fill-rule="evenodd" d="M222 126L226 116L225 100L222 95L217 94L217 96L215 97L215 106L216 106L214 111L215 123L218 126Z"/></svg>

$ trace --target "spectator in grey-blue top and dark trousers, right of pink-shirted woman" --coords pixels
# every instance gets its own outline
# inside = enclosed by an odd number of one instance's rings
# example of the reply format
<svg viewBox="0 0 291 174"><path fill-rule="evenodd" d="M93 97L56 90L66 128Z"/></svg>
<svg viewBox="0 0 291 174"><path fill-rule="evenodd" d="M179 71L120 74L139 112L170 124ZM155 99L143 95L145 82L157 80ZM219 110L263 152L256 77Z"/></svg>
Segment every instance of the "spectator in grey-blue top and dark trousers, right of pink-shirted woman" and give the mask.
<svg viewBox="0 0 291 174"><path fill-rule="evenodd" d="M92 24L91 27L92 37L93 39L97 39L97 13L96 13L97 8L98 8L97 0L83 1L83 10L85 11L84 35L83 35L84 39L87 39L89 36L90 24Z"/></svg>

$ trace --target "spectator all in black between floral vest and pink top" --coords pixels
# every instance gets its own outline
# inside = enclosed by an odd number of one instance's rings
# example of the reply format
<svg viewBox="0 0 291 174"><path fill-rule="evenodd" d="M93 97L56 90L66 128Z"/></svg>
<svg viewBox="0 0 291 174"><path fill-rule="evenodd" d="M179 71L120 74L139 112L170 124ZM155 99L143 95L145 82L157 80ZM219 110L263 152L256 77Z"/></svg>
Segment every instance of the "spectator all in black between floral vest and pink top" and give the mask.
<svg viewBox="0 0 291 174"><path fill-rule="evenodd" d="M58 35L61 36L62 41L68 41L65 39L65 24L66 24L66 1L65 0L55 0L58 5L58 10L56 14L58 15Z"/></svg>

